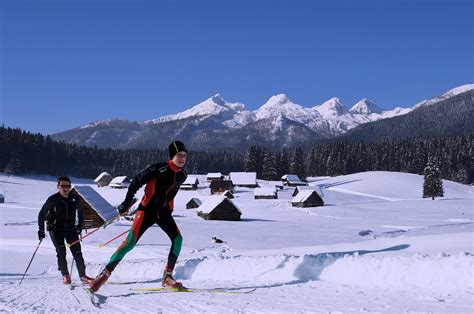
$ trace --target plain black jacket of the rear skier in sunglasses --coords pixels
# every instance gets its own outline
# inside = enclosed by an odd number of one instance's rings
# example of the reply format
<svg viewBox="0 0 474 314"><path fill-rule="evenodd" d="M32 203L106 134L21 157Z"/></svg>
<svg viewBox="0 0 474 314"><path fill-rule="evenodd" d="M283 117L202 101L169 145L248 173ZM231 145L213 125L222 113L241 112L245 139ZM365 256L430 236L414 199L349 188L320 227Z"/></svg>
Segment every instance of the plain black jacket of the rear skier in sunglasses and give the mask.
<svg viewBox="0 0 474 314"><path fill-rule="evenodd" d="M75 228L76 210L78 225L82 226L83 209L79 198L74 192L68 198L63 198L59 192L48 197L38 214L39 230L44 231L44 221L47 220L48 230L64 230Z"/></svg>

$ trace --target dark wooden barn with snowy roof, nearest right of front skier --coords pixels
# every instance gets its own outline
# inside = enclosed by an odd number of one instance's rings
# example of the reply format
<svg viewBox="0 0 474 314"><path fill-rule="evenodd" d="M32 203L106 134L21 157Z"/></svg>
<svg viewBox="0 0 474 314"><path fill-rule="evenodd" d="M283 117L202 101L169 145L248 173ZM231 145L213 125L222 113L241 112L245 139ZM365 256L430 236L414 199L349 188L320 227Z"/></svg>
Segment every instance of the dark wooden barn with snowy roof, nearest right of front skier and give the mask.
<svg viewBox="0 0 474 314"><path fill-rule="evenodd" d="M240 220L242 212L225 196L211 196L200 207L198 216L205 220Z"/></svg>

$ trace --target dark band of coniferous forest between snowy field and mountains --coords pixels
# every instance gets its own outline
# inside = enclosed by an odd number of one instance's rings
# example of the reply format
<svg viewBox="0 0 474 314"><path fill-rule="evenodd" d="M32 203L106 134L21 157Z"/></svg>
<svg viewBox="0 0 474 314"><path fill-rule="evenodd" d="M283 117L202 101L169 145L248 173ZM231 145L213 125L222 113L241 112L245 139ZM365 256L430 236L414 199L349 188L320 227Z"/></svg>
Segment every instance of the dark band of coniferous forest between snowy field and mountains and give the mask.
<svg viewBox="0 0 474 314"><path fill-rule="evenodd" d="M133 177L150 163L165 161L166 150L98 149L52 140L49 136L0 127L0 171L9 174L68 175L95 178ZM188 173L255 171L257 177L278 180L292 173L301 178L336 176L363 171L423 174L428 160L444 179L472 184L473 136L417 137L378 142L327 141L308 147L269 150L257 145L242 154L190 151Z"/></svg>

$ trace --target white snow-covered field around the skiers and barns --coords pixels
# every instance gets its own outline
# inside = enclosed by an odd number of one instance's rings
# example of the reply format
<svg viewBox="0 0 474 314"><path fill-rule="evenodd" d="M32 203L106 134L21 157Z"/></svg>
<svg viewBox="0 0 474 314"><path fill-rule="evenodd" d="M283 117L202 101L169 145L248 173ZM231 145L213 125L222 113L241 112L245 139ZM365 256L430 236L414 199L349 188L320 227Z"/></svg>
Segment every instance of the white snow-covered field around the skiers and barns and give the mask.
<svg viewBox="0 0 474 314"><path fill-rule="evenodd" d="M99 291L94 306L82 287L63 286L49 238L21 286L35 250L37 215L56 192L52 177L0 174L0 311L6 312L474 312L473 187L444 181L445 197L422 199L418 175L366 172L311 178L324 207L291 207L293 188L277 200L254 200L237 188L242 221L206 221L186 209L209 196L205 177L180 191L174 217L184 237L176 278L193 288L250 294L150 293L158 287L169 240L151 227ZM262 187L280 182L259 181ZM92 180L73 179L75 185ZM112 205L126 190L94 187ZM138 196L141 196L139 192ZM87 273L96 276L130 228L123 220L84 239ZM364 235L365 234L365 235ZM225 241L212 242L216 236ZM124 236L125 237L125 236ZM71 261L68 252L68 261ZM73 282L78 282L76 270Z"/></svg>

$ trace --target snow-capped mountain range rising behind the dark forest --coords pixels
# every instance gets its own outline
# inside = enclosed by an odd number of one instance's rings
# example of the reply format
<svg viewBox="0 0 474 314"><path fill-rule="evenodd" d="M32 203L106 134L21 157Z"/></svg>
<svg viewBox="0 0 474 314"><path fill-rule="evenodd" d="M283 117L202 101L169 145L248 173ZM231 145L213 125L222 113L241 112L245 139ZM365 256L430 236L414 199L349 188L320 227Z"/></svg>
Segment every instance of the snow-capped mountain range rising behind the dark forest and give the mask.
<svg viewBox="0 0 474 314"><path fill-rule="evenodd" d="M55 139L82 145L112 148L163 147L171 139L183 139L199 149L229 149L259 143L270 147L299 145L331 138L368 122L405 115L458 94L474 90L474 84L456 87L411 108L383 111L368 99L350 109L334 97L310 108L278 94L257 110L228 102L220 94L173 115L147 121L110 119L55 134Z"/></svg>

